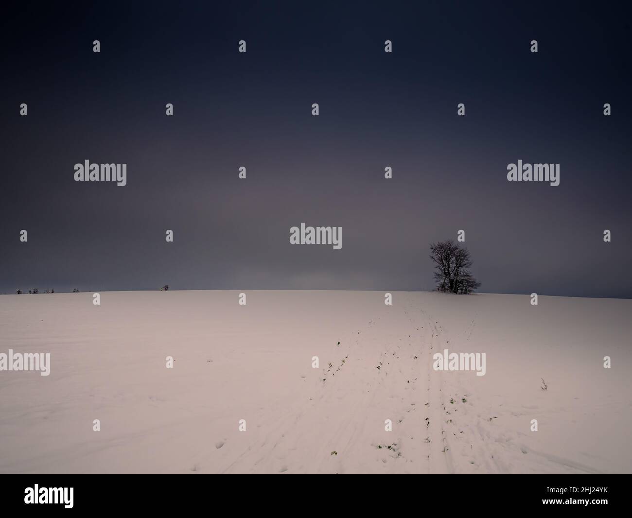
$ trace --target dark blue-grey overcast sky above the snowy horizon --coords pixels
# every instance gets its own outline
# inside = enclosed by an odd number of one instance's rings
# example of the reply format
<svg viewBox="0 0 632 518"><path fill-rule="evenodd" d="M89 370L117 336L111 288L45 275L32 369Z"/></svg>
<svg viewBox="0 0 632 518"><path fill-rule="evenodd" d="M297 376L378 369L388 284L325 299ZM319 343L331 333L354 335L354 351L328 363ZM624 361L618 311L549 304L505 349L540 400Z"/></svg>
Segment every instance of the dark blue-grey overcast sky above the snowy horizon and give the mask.
<svg viewBox="0 0 632 518"><path fill-rule="evenodd" d="M130 4L3 13L0 291L432 289L464 229L480 291L632 296L618 3ZM560 185L509 183L519 159Z"/></svg>

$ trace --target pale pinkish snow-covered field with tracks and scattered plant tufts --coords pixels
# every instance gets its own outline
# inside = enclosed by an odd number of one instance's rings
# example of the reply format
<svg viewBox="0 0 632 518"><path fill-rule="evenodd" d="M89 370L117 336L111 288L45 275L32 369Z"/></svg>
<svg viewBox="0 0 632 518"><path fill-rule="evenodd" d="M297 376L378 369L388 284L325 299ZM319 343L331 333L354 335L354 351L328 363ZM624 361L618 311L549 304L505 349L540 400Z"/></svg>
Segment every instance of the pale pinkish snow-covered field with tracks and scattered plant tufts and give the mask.
<svg viewBox="0 0 632 518"><path fill-rule="evenodd" d="M0 473L632 473L631 300L238 293L0 296Z"/></svg>

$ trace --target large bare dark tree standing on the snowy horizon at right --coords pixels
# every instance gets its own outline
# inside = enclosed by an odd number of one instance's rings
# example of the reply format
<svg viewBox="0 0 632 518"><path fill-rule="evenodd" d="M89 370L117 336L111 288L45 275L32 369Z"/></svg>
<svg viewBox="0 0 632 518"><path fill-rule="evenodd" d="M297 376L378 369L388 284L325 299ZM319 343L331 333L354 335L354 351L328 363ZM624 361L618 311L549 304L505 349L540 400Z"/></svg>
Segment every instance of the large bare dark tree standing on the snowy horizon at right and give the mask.
<svg viewBox="0 0 632 518"><path fill-rule="evenodd" d="M470 252L454 241L432 243L430 259L435 263L437 291L470 293L480 286L480 282L470 274Z"/></svg>

